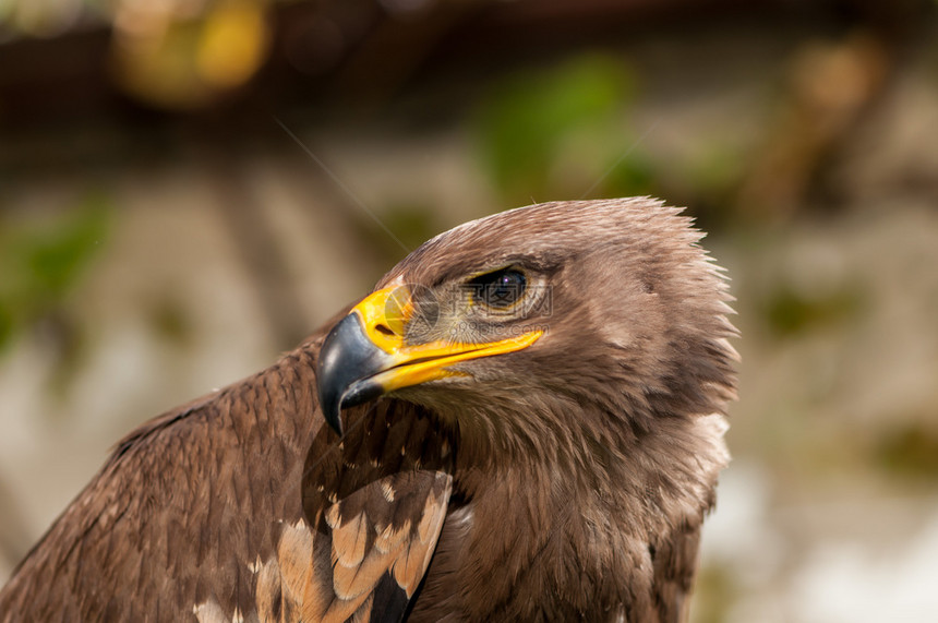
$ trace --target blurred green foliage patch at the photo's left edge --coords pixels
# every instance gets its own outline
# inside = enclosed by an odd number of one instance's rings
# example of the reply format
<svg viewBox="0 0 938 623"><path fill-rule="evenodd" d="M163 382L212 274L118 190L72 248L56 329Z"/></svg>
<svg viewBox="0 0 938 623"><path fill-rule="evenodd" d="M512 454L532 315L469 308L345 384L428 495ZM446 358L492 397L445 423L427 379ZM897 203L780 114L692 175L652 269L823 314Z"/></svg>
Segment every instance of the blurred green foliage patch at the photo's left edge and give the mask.
<svg viewBox="0 0 938 623"><path fill-rule="evenodd" d="M107 200L89 195L56 219L0 221L0 349L60 305L104 242L109 216Z"/></svg>

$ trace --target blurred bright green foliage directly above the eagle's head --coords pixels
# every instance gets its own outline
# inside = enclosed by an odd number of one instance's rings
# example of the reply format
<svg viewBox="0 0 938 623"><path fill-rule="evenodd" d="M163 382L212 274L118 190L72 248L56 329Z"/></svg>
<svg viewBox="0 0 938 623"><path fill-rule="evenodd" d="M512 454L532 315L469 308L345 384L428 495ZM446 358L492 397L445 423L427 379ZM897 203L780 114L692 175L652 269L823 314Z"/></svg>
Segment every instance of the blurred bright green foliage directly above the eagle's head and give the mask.
<svg viewBox="0 0 938 623"><path fill-rule="evenodd" d="M512 203L652 192L656 168L627 127L634 79L596 55L504 81L479 115L485 169Z"/></svg>

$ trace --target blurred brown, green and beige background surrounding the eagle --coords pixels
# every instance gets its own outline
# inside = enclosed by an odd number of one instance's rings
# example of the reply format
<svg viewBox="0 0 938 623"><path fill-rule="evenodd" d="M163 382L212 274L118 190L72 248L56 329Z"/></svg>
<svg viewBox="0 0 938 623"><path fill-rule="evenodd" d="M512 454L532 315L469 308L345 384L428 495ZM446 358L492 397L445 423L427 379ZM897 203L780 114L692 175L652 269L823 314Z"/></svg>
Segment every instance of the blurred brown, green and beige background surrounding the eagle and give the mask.
<svg viewBox="0 0 938 623"><path fill-rule="evenodd" d="M694 621L938 621L935 0L0 0L0 582L137 423L428 237L652 194L729 267Z"/></svg>

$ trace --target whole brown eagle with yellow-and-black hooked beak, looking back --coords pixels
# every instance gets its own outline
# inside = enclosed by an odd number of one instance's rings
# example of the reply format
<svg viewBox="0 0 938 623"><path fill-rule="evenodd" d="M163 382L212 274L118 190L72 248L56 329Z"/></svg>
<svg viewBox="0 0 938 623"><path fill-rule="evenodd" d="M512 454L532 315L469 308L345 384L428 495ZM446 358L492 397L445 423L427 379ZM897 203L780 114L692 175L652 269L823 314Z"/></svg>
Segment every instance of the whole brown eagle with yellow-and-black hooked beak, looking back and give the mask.
<svg viewBox="0 0 938 623"><path fill-rule="evenodd" d="M0 620L684 620L736 393L701 238L648 197L441 233L120 441Z"/></svg>

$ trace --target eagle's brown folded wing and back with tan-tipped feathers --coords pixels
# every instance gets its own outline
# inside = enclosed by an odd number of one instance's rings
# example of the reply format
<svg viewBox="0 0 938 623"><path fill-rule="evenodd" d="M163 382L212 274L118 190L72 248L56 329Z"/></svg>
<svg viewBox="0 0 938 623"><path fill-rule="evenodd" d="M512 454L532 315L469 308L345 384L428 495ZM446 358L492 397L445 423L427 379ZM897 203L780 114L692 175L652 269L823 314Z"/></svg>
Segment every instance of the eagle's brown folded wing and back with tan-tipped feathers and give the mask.
<svg viewBox="0 0 938 623"><path fill-rule="evenodd" d="M272 395L315 386L310 362L290 354L129 435L0 590L0 621L400 621L446 516L452 440L396 400L346 410L339 439L314 403Z"/></svg>

